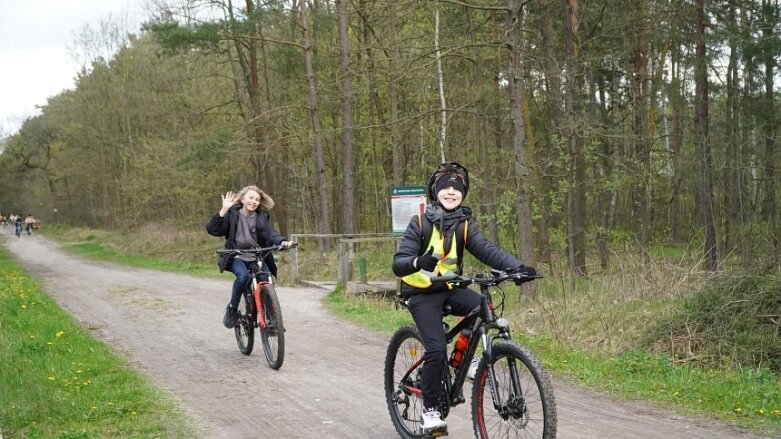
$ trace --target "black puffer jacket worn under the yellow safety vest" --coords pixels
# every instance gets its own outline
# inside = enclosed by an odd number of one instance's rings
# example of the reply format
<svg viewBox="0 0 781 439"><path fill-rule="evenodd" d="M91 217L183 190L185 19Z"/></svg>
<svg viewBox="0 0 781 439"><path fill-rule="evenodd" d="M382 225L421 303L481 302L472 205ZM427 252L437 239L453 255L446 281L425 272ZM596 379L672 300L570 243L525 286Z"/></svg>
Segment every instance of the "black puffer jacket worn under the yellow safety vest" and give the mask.
<svg viewBox="0 0 781 439"><path fill-rule="evenodd" d="M467 222L467 239L464 249L483 264L497 270L516 269L523 265L523 262L508 254L483 236L482 232L480 232L480 228L472 220L472 210L470 208L459 207L451 213L444 213L445 218L447 218L446 222L442 221L442 209L437 208L434 205L429 205L424 215L428 217L434 227L438 230L441 228L440 224L449 224L449 227L447 227L448 235L452 235L453 230L457 229L457 223L469 220ZM442 233L441 230L440 233ZM410 220L404 234L401 236L399 248L393 256L393 273L396 276L401 278L418 271L412 263L415 258L424 253L421 251L421 245L427 244L421 244L421 234L422 230L418 224L418 218L417 216L414 216ZM431 237L427 237L426 239L430 238ZM451 245L455 245L455 243ZM444 284L435 283L427 289L420 289L401 282L401 294L403 296L429 291L440 291L446 288L447 287Z"/></svg>

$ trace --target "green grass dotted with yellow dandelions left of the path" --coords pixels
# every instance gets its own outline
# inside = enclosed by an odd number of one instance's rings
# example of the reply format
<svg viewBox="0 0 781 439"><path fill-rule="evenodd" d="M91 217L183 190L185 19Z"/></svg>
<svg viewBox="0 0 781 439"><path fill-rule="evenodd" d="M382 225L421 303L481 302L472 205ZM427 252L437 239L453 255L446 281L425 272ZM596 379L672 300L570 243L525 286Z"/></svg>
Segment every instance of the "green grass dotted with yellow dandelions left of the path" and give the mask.
<svg viewBox="0 0 781 439"><path fill-rule="evenodd" d="M173 400L94 340L0 249L4 437L194 437Z"/></svg>

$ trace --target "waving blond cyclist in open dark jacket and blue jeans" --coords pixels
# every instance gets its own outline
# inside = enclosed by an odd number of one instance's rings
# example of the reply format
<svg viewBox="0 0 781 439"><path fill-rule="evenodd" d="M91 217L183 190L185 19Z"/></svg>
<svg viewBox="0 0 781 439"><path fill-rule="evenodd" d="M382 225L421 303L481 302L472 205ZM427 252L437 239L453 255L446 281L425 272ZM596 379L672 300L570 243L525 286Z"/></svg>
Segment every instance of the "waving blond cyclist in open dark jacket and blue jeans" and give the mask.
<svg viewBox="0 0 781 439"><path fill-rule="evenodd" d="M228 191L222 196L222 208L206 224L206 231L212 236L224 236L227 249L271 247L280 244L290 246L290 241L285 240L271 227L269 211L273 207L274 200L257 186L247 186L238 194ZM251 254L220 256L220 272L228 270L236 276L231 300L225 307L225 316L222 319L226 328L236 326L241 292L256 264L255 255ZM263 265L269 273L277 275L277 266L271 253L266 256Z"/></svg>

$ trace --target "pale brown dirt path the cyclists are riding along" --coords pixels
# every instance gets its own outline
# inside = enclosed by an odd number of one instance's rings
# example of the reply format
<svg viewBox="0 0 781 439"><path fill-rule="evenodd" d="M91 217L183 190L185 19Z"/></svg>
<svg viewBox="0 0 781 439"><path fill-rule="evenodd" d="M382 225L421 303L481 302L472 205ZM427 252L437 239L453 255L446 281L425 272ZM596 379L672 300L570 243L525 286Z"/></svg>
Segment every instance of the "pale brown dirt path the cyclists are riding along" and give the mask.
<svg viewBox="0 0 781 439"><path fill-rule="evenodd" d="M387 340L329 314L326 291L278 288L287 349L274 371L262 351L239 353L222 326L230 275L205 280L90 262L9 228L0 243L62 308L170 392L203 438L398 437L382 388ZM560 382L556 399L562 439L762 437ZM471 437L468 404L448 424L450 437Z"/></svg>

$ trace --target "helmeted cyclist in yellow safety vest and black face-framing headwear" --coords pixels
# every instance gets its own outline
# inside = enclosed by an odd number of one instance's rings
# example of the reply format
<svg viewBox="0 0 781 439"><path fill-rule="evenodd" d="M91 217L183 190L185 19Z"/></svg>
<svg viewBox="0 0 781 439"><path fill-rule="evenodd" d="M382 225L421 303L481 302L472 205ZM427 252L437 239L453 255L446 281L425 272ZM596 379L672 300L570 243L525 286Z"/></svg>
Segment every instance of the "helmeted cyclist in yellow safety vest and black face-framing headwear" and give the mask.
<svg viewBox="0 0 781 439"><path fill-rule="evenodd" d="M424 433L447 430L439 407L440 380L447 367L447 341L442 330L442 308L450 305L453 315L464 316L480 305L480 295L467 288L431 279L461 274L463 252L498 269L536 274L532 267L489 241L472 221L472 210L461 205L469 191L469 173L458 163L443 163L428 180L429 205L410 221L393 256L393 273L401 278L401 294L423 338L421 390ZM428 236L425 236L428 235ZM470 367L474 377L476 364Z"/></svg>

